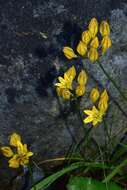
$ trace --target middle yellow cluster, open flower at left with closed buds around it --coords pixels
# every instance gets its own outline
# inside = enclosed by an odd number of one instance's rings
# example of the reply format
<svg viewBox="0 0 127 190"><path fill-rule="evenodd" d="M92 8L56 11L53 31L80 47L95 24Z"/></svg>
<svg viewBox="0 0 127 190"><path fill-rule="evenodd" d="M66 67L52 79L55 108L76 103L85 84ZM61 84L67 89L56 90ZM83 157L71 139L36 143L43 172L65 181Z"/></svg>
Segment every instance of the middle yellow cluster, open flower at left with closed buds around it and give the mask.
<svg viewBox="0 0 127 190"><path fill-rule="evenodd" d="M74 96L83 96L85 93L85 86L87 82L87 74L84 70L81 70L77 77L76 88L73 87L73 81L76 77L75 67L70 67L64 76L58 77L58 83L55 83L58 96L63 97L65 100L70 100Z"/></svg>

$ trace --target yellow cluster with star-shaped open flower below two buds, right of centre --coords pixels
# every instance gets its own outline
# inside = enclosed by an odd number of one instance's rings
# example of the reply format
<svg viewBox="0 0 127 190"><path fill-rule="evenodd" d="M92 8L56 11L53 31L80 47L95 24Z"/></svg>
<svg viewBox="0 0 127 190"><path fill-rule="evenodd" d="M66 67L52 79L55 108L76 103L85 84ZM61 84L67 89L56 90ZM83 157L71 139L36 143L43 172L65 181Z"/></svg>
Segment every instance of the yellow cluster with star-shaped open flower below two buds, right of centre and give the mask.
<svg viewBox="0 0 127 190"><path fill-rule="evenodd" d="M88 115L84 119L84 123L91 123L96 126L98 123L102 122L103 116L105 115L108 108L109 96L106 90L104 90L101 95L97 88L93 88L90 93L90 99L95 103L98 99L97 107L94 105L91 110L84 110L84 113Z"/></svg>

